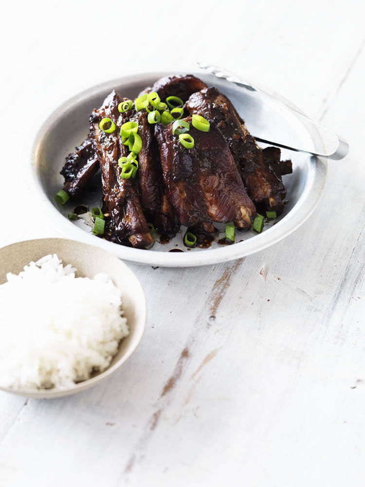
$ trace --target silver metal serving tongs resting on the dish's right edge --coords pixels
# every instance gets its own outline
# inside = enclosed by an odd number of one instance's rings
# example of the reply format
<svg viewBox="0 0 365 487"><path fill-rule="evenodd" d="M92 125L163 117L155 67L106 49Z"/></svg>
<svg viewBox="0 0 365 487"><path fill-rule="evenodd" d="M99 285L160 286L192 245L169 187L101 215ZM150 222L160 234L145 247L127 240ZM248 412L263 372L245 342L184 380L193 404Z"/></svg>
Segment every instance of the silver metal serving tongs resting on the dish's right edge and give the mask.
<svg viewBox="0 0 365 487"><path fill-rule="evenodd" d="M277 146L281 147L283 149L289 149L289 150L295 150L297 152L306 152L307 154L319 156L319 157L327 157L328 159L333 159L336 161L339 161L340 159L343 159L346 157L348 153L348 144L345 139L340 137L339 135L336 135L334 132L329 131L328 129L325 129L321 125L318 125L317 123L313 122L310 118L306 117L302 113L298 112L297 110L288 107L284 103L281 103L277 99L273 98L269 94L265 93L264 91L260 90L256 86L254 86L252 83L249 83L248 81L244 80L243 78L238 77L237 75L234 75L230 71L227 71L226 69L219 68L217 66L211 66L209 64L204 64L201 62L197 63L198 66L201 69L204 69L211 73L212 75L217 76L218 78L223 78L226 79L227 81L231 83L235 83L236 85L246 88L247 90L257 92L259 94L262 94L271 100L273 100L275 103L278 103L281 107L283 107L286 110L289 110L290 112L294 113L295 116L303 122L305 126L307 126L310 129L315 128L316 131L320 134L320 137L322 139L323 145L325 147L325 152L316 152L312 150L307 150L307 149L302 149L299 147L292 147L291 145L288 144L282 144L279 142L274 142L272 140L267 140L262 137L257 137L253 135L258 142L263 142L265 144L270 144L272 146Z"/></svg>

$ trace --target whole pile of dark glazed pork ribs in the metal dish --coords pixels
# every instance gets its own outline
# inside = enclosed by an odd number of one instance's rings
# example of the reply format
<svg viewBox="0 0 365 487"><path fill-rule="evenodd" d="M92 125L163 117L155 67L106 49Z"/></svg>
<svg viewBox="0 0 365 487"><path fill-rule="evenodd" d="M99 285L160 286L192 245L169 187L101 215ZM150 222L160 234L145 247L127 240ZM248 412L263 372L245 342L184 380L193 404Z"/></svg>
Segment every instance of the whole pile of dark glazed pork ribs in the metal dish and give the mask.
<svg viewBox="0 0 365 487"><path fill-rule="evenodd" d="M173 135L173 122L149 124L146 110L136 112L134 105L120 113L118 105L127 98L116 91L92 112L89 136L66 158L61 174L63 189L79 197L101 169L108 240L146 248L153 243L147 222L170 236L179 225L197 233L213 232L215 222L233 222L247 230L256 208L283 210L282 176L292 172L291 161L280 161L276 147L261 150L224 94L193 75L161 78L142 94L150 91L157 92L161 101L179 96L183 119L191 122L191 115L201 115L210 122L210 130L190 125L195 144L187 150ZM128 147L122 144L119 129L105 133L99 128L103 118L110 118L117 128L138 122L142 149L135 179L120 177L118 159L128 155Z"/></svg>

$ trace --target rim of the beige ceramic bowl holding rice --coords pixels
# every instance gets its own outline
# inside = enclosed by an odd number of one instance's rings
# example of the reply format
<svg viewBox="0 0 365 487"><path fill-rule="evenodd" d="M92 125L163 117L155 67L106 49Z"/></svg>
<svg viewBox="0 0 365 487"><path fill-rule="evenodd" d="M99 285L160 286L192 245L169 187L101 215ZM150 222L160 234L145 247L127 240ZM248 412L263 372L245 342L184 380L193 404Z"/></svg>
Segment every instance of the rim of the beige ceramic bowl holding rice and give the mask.
<svg viewBox="0 0 365 487"><path fill-rule="evenodd" d="M31 244L31 243L37 243L40 241L50 242L50 245L52 245L52 243L55 241L57 241L57 242L62 241L62 242L66 242L67 244L79 244L79 245L85 246L86 248L89 247L89 249L91 247L93 247L94 249L97 249L98 251L101 251L103 253L105 252L104 249L100 249L100 247L98 247L97 245L85 244L84 242L80 242L77 240L64 239L64 238L58 238L58 237L31 239L31 240L23 240L23 241L15 242L13 244L4 245L3 247L0 248L0 252L5 248L9 248L9 247L16 246L19 244ZM12 389L12 388L8 388L8 387L1 387L0 386L0 391L13 393L13 394L21 395L21 396L26 396L26 397L39 398L39 399L41 399L41 398L55 398L55 397L61 397L61 396L66 396L66 395L70 395L73 393L77 393L77 392L80 392L82 390L88 389L89 387L92 387L92 386L98 384L99 382L101 382L102 380L106 379L107 377L109 377L117 369L119 369L119 367L121 367L128 360L128 358L136 351L136 349L140 345L142 338L146 332L146 321L147 321L146 294L145 294L145 291L144 291L143 286L141 284L141 281L138 279L138 277L132 271L132 269L130 269L130 267L128 267L128 265L125 262L123 262L121 259L118 259L113 254L110 254L110 252L106 252L106 253L108 254L109 258L115 259L116 261L118 261L118 265L121 266L122 268L124 268L124 272L127 273L127 278L130 278L132 276L132 278L135 281L135 284L139 287L139 290L138 290L138 295L139 295L138 308L139 308L139 312L140 312L140 318L137 321L138 326L135 327L134 332L133 332L133 343L127 349L126 353L123 356L121 356L112 366L109 366L105 371L97 373L96 375L94 375L90 379L86 379L86 380L83 380L81 382L78 382L72 387L68 387L68 388L64 388L64 389L57 389L57 388L53 388L53 389L26 389L26 388L24 388L24 389ZM89 255L89 253L85 252L85 255ZM128 276L128 274L129 274L129 276ZM123 300L123 296L122 296L122 300ZM123 341L123 339L121 341Z"/></svg>

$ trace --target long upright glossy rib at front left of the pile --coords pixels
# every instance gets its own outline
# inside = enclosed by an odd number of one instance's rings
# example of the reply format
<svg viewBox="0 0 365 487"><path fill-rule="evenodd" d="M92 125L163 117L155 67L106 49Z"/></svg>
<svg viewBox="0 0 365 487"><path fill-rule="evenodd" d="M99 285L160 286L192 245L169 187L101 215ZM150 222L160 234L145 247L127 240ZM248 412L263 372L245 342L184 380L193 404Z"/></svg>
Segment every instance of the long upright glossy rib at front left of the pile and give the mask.
<svg viewBox="0 0 365 487"><path fill-rule="evenodd" d="M153 243L145 215L138 198L135 181L120 177L118 159L125 155L125 146L119 136L119 129L106 133L99 128L102 118L110 118L119 128L123 124L118 105L123 98L113 91L103 105L94 110L90 117L90 134L100 162L104 202L110 214L108 228L114 238L128 239L135 247L146 247Z"/></svg>

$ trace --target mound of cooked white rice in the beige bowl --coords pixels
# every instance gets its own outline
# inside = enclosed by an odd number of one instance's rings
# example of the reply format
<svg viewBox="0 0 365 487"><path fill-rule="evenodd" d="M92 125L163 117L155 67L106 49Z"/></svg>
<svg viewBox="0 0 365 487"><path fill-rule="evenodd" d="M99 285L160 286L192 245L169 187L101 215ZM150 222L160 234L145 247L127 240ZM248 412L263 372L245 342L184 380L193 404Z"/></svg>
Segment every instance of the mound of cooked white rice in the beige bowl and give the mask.
<svg viewBox="0 0 365 487"><path fill-rule="evenodd" d="M121 292L106 274L76 278L57 255L0 285L0 385L73 386L110 364L128 335Z"/></svg>

